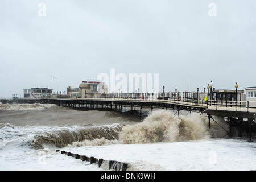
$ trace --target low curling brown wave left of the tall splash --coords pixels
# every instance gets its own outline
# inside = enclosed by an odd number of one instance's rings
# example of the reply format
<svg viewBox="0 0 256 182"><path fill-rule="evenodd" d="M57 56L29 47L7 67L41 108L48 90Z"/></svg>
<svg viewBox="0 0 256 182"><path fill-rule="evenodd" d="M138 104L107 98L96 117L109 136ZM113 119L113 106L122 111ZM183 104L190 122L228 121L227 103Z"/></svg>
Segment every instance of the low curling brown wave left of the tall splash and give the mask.
<svg viewBox="0 0 256 182"><path fill-rule="evenodd" d="M44 132L36 135L30 144L35 148L43 148L44 144L54 144L56 147L65 147L67 145L82 146L87 144L102 145L107 142L109 143L110 140L117 140L122 127L122 124L113 124L83 129Z"/></svg>

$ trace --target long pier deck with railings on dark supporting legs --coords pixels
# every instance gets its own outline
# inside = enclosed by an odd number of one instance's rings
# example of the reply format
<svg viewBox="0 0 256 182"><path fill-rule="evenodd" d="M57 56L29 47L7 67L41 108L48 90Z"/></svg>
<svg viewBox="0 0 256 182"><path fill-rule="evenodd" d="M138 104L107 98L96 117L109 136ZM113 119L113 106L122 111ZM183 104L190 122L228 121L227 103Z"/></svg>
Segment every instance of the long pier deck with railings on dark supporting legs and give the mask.
<svg viewBox="0 0 256 182"><path fill-rule="evenodd" d="M38 98L26 99L19 98L14 100L1 100L2 103L41 103L56 104L63 107L71 107L81 110L112 110L125 113L135 111L139 114L139 119L143 113L149 113L154 109L171 110L174 115L180 115L185 111L186 115L191 112L205 113L208 115L209 128L214 121L212 116L224 117L229 123L229 137L233 137L232 127L247 125L249 129L249 142L252 142L252 132L255 127L256 102L249 101L216 101L199 100L196 93L183 93L181 99L180 93L158 93L158 94L102 94L98 97L86 98ZM184 113L184 112L183 112ZM241 137L241 133L239 134Z"/></svg>

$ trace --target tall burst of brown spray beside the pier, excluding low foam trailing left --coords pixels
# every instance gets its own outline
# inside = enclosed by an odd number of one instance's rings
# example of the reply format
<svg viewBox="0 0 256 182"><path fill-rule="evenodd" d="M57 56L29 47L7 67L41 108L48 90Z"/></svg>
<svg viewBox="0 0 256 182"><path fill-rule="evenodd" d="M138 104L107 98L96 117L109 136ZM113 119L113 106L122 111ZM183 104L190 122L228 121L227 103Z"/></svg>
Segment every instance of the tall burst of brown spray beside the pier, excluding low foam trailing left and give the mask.
<svg viewBox="0 0 256 182"><path fill-rule="evenodd" d="M143 122L123 127L119 140L125 144L154 142L183 142L208 136L204 118L200 114L175 117L168 111L155 111Z"/></svg>

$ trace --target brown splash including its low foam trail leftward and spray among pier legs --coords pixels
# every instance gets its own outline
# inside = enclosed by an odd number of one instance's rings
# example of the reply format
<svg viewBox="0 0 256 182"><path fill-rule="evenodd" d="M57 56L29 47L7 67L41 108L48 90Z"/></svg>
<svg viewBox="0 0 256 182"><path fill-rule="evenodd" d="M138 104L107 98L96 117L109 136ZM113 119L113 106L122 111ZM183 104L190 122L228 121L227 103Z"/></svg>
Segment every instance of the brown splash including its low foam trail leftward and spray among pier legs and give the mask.
<svg viewBox="0 0 256 182"><path fill-rule="evenodd" d="M228 129L222 118L215 118ZM155 111L135 125L125 125L114 140L106 138L73 142L68 147L99 146L106 144L143 144L155 142L185 142L189 140L223 137L226 131L215 123L208 128L205 114L193 113L191 117L176 117L170 111Z"/></svg>

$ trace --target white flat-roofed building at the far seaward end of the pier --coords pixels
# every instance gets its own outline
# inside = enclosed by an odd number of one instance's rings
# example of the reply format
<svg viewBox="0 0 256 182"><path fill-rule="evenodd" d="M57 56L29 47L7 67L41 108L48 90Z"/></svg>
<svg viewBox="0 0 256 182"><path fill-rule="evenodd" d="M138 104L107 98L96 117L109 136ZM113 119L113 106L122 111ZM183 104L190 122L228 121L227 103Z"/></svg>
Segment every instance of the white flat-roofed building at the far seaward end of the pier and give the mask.
<svg viewBox="0 0 256 182"><path fill-rule="evenodd" d="M52 96L52 89L48 88L23 89L23 92L24 98L42 98Z"/></svg>

